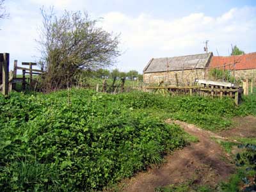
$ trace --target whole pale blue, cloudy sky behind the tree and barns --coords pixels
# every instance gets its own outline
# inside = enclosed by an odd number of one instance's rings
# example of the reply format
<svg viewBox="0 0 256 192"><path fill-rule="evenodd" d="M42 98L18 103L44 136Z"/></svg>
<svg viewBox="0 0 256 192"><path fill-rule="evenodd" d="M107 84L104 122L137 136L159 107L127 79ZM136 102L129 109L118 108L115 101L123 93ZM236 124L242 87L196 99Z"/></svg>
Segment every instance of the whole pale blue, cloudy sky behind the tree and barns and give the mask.
<svg viewBox="0 0 256 192"><path fill-rule="evenodd" d="M112 68L122 71L143 68L151 58L204 53L227 56L231 44L244 52L256 52L256 1L246 0L6 0L9 19L0 20L0 52L13 60L37 61L40 8L54 6L57 15L65 10L86 11L98 25L120 33L122 56Z"/></svg>

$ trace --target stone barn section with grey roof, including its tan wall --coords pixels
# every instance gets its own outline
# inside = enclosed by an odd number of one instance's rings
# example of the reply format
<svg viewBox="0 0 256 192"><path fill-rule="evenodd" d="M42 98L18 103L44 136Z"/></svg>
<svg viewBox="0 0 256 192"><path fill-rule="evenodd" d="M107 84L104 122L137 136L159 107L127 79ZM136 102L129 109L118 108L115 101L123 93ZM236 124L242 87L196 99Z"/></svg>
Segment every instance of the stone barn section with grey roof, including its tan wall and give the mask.
<svg viewBox="0 0 256 192"><path fill-rule="evenodd" d="M188 85L198 79L205 79L212 52L177 56L172 58L152 58L143 70L144 83Z"/></svg>

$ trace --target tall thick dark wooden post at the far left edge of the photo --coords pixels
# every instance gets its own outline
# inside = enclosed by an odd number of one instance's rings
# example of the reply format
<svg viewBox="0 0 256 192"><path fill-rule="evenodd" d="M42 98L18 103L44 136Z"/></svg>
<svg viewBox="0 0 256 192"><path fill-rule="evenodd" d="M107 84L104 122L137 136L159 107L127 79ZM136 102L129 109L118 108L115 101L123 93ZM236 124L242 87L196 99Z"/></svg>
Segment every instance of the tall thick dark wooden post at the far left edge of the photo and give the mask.
<svg viewBox="0 0 256 192"><path fill-rule="evenodd" d="M3 54L3 94L8 95L9 89L9 53Z"/></svg>

